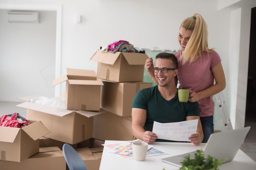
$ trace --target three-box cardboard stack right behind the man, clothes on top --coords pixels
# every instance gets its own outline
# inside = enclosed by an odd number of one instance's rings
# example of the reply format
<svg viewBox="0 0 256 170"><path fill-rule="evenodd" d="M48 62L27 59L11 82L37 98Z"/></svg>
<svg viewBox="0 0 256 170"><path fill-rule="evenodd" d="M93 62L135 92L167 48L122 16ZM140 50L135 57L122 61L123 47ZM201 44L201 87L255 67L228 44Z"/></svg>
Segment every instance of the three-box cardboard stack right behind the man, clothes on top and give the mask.
<svg viewBox="0 0 256 170"><path fill-rule="evenodd" d="M101 107L107 113L93 118L93 138L132 140L131 103L140 89L151 87L143 82L145 53L97 51L92 61L98 62L97 78L104 85Z"/></svg>

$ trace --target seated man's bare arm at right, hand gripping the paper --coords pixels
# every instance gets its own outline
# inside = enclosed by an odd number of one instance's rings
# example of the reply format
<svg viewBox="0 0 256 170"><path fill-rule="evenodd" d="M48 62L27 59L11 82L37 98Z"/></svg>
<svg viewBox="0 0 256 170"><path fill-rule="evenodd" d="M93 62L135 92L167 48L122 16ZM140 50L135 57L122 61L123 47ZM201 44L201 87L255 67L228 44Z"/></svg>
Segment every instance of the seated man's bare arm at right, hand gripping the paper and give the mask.
<svg viewBox="0 0 256 170"><path fill-rule="evenodd" d="M194 145L199 145L204 138L204 134L203 134L203 129L202 129L202 124L200 121L200 117L199 116L187 116L186 120L194 120L194 119L198 119L198 124L197 124L197 128L196 128L196 133L192 134L189 139L191 140L191 142Z"/></svg>

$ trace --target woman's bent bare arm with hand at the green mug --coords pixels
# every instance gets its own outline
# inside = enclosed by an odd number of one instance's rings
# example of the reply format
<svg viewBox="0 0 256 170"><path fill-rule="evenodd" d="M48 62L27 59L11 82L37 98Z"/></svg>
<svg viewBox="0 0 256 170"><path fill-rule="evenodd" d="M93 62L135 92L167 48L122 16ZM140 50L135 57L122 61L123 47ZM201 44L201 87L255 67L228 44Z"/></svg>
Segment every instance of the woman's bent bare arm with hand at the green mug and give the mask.
<svg viewBox="0 0 256 170"><path fill-rule="evenodd" d="M219 93L225 88L226 79L225 79L225 74L224 74L221 63L218 63L215 67L213 67L212 72L213 72L215 84L200 92L191 91L190 102L197 102L200 99L213 96L214 94Z"/></svg>

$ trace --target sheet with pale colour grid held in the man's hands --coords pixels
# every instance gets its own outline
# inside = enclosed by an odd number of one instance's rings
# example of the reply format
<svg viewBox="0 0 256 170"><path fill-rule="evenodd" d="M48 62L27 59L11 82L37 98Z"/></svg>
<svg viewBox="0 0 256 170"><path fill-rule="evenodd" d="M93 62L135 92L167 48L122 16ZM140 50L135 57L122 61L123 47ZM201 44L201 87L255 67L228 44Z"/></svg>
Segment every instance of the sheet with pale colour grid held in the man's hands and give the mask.
<svg viewBox="0 0 256 170"><path fill-rule="evenodd" d="M189 137L196 132L197 123L198 119L173 123L159 123L154 121L152 132L159 139L190 142Z"/></svg>

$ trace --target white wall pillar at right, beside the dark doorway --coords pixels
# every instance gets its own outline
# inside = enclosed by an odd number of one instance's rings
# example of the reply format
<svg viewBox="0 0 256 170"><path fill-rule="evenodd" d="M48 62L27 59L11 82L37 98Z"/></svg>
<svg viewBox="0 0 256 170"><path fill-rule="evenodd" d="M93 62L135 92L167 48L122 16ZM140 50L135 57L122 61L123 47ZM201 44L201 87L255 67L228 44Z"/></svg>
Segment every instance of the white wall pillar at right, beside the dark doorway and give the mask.
<svg viewBox="0 0 256 170"><path fill-rule="evenodd" d="M222 0L219 0L219 2ZM231 11L226 99L234 128L244 127L250 44L251 8L255 0L229 0ZM220 3L219 3L220 4ZM220 6L218 6L220 7Z"/></svg>

